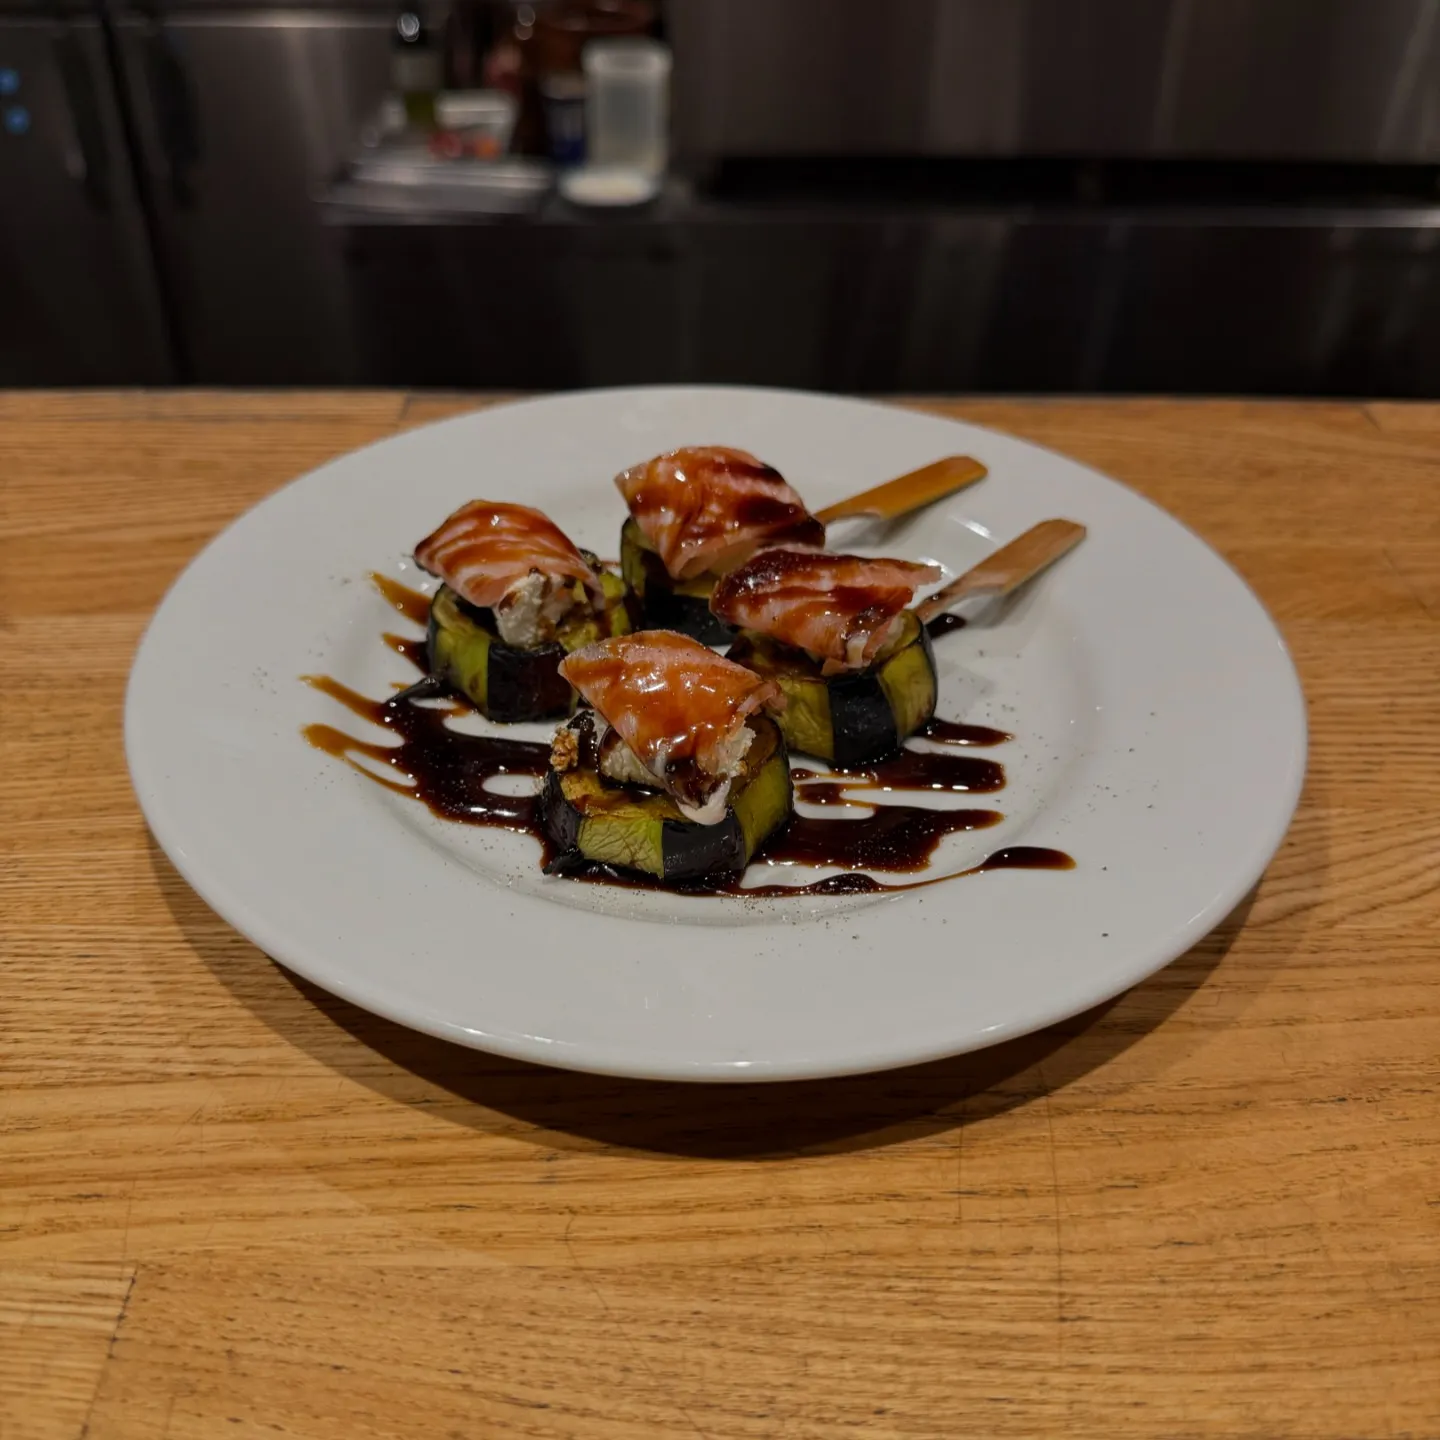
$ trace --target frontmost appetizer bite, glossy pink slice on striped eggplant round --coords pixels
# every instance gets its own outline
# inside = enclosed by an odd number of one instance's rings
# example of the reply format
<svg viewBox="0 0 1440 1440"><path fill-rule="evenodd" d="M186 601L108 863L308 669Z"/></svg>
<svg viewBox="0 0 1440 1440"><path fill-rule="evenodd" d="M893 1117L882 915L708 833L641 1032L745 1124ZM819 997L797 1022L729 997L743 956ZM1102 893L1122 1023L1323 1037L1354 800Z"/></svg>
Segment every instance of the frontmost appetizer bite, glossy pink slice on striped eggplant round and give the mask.
<svg viewBox="0 0 1440 1440"><path fill-rule="evenodd" d="M586 645L560 672L593 708L550 752L540 819L552 871L736 874L791 818L773 681L672 631Z"/></svg>

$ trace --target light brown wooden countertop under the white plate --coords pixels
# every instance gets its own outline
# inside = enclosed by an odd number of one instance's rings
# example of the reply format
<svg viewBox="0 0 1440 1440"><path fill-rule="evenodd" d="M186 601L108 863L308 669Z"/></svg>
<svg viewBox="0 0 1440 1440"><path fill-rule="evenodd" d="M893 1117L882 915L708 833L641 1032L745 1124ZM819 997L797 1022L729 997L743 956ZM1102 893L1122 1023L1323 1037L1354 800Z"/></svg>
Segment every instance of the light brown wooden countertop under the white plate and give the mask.
<svg viewBox="0 0 1440 1440"><path fill-rule="evenodd" d="M926 405L1246 573L1305 801L1102 1011L742 1092L353 1009L135 809L125 672L180 566L474 403L0 396L0 1437L1440 1436L1440 408Z"/></svg>

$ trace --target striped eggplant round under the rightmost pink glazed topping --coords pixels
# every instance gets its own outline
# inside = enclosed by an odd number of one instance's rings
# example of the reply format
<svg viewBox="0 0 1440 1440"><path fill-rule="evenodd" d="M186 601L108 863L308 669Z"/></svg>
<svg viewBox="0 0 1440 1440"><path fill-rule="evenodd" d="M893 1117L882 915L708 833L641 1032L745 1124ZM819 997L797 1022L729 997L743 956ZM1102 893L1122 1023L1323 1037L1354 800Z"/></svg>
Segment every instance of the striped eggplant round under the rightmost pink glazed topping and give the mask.
<svg viewBox="0 0 1440 1440"><path fill-rule="evenodd" d="M937 683L930 636L913 611L900 632L857 674L822 675L818 661L756 631L740 631L729 658L785 691L778 716L792 750L840 769L894 755L933 714Z"/></svg>

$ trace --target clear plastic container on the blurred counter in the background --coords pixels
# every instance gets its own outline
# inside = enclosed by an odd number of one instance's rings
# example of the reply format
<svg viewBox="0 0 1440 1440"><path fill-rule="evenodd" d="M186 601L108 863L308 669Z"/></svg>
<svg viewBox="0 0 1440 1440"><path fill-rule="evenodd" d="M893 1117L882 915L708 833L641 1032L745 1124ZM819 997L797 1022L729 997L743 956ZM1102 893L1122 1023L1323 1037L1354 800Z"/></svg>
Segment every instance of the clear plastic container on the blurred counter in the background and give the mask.
<svg viewBox="0 0 1440 1440"><path fill-rule="evenodd" d="M658 40L590 40L585 68L585 158L658 176L670 138L670 48Z"/></svg>

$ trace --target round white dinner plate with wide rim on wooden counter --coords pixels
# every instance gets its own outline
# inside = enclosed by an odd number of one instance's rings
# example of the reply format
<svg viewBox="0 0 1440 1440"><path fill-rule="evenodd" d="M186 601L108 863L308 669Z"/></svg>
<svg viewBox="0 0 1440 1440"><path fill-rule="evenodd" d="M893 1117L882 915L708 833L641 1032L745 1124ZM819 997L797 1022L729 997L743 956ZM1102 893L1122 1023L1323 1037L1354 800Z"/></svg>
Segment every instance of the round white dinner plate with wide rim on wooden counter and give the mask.
<svg viewBox="0 0 1440 1440"><path fill-rule="evenodd" d="M451 510L524 501L613 557L625 511L611 477L690 444L753 451L812 508L942 455L976 456L989 477L969 490L887 534L834 536L948 573L1037 520L1089 527L1018 602L936 642L937 713L1014 736L979 752L1004 762L1005 789L981 801L1004 821L946 837L927 871L953 878L778 899L552 878L533 838L439 819L302 739L311 721L383 739L301 675L373 697L415 678L380 638L408 622L369 575L432 588L410 550ZM1238 576L1084 465L884 405L645 387L462 415L271 495L161 603L131 672L125 746L145 818L186 880L317 985L526 1060L779 1080L992 1044L1178 956L1238 904L1284 835L1305 708ZM962 874L1014 845L1063 850L1074 868Z"/></svg>

